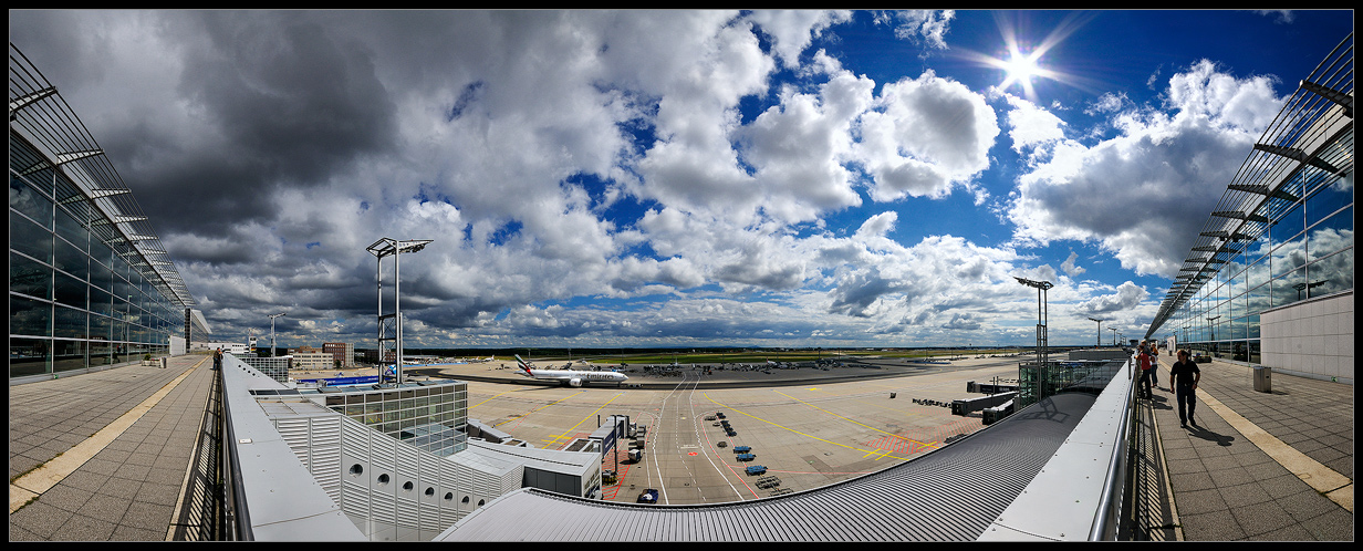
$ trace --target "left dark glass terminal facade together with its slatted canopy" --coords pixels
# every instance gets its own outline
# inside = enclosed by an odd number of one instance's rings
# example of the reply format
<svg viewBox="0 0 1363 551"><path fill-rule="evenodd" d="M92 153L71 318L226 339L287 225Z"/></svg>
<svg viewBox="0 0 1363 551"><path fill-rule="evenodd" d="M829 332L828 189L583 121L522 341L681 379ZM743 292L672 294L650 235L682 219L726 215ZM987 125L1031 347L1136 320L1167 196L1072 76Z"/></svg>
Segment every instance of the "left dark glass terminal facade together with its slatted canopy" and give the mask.
<svg viewBox="0 0 1363 551"><path fill-rule="evenodd" d="M131 190L10 45L10 379L98 370L206 323Z"/></svg>

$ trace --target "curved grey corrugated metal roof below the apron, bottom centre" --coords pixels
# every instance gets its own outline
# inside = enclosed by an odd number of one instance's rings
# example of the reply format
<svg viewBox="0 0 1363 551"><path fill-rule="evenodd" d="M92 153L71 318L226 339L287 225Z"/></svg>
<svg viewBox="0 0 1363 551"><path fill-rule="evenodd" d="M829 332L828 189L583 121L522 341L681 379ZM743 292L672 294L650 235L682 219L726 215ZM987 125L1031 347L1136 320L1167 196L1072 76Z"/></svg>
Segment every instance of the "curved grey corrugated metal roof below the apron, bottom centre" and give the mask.
<svg viewBox="0 0 1363 551"><path fill-rule="evenodd" d="M635 505L534 488L497 498L444 541L975 541L1093 405L1059 394L913 461L823 488L718 505ZM526 521L534 511L534 521Z"/></svg>

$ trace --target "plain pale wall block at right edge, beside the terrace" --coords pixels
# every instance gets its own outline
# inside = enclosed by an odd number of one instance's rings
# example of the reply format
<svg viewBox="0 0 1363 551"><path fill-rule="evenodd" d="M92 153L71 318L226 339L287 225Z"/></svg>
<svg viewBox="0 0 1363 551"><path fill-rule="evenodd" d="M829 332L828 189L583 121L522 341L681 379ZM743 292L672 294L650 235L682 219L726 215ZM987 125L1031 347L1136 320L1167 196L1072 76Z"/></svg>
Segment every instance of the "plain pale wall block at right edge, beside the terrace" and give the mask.
<svg viewBox="0 0 1363 551"><path fill-rule="evenodd" d="M1264 366L1353 382L1353 292L1308 299L1259 315Z"/></svg>

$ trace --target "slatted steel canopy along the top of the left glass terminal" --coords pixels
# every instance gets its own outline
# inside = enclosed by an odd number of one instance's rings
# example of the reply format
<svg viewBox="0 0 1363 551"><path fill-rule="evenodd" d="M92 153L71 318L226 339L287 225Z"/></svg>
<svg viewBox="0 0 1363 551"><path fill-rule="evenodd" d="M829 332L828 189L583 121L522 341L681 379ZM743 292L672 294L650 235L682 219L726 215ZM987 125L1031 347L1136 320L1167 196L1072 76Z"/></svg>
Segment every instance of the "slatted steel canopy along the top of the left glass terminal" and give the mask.
<svg viewBox="0 0 1363 551"><path fill-rule="evenodd" d="M42 157L22 168L11 158L12 170L20 175L52 170L53 179L63 176L78 192L53 198L59 205L85 214L82 222L91 233L128 258L170 303L196 304L173 263L149 258L165 254L165 247L104 149L57 87L14 44L10 44L10 139L27 142Z"/></svg>

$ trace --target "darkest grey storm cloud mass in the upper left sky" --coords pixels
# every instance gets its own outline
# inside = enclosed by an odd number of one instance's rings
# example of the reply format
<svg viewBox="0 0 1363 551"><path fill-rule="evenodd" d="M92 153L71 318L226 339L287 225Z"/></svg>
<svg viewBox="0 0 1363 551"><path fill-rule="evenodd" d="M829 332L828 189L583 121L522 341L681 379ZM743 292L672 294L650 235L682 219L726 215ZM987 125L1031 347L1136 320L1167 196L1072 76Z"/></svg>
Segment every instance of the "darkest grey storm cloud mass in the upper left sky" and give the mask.
<svg viewBox="0 0 1363 551"><path fill-rule="evenodd" d="M316 188L367 157L395 149L395 104L373 53L318 19L323 12L31 12L14 38L46 63L59 90L117 82L109 102L79 98L97 138L164 233L221 236L271 220L278 187ZM120 26L138 40L119 44ZM57 27L67 27L59 31ZM72 35L76 41L53 40ZM75 50L76 53L72 53ZM65 52L65 53L63 53ZM146 79L108 74L128 63ZM41 61L40 61L41 63ZM124 65L128 67L128 65ZM149 104L147 98L158 98ZM169 102L169 105L166 105ZM188 124L185 124L188 123Z"/></svg>

